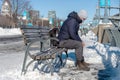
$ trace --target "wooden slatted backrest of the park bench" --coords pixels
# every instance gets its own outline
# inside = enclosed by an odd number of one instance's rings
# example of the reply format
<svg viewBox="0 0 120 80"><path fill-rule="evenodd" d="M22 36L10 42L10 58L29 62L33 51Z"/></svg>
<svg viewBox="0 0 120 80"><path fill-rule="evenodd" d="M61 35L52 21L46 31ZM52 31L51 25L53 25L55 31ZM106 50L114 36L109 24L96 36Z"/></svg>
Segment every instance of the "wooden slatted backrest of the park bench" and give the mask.
<svg viewBox="0 0 120 80"><path fill-rule="evenodd" d="M21 32L24 37L25 45L37 39L47 39L49 37L49 27L26 26L22 25Z"/></svg>

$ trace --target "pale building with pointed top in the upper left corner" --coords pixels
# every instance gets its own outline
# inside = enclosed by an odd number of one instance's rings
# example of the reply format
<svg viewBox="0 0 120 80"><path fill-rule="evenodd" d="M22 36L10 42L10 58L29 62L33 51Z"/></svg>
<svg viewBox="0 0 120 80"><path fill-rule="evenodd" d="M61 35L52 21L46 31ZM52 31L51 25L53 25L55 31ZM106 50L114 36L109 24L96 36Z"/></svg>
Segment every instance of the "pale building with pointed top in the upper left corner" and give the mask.
<svg viewBox="0 0 120 80"><path fill-rule="evenodd" d="M1 7L1 15L9 16L11 17L12 13L12 5L9 0L4 0L2 7Z"/></svg>

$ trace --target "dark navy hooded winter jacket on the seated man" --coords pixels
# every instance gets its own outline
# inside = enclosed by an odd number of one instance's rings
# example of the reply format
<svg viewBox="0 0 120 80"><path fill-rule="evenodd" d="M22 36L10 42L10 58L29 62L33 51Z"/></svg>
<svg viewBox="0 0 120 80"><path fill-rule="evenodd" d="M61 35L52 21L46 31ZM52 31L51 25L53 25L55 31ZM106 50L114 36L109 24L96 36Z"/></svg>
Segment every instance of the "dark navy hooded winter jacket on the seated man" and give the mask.
<svg viewBox="0 0 120 80"><path fill-rule="evenodd" d="M81 38L78 35L79 24L82 23L82 20L79 18L76 12L71 12L68 15L68 18L64 21L60 32L58 34L58 39L62 40L77 40L81 41Z"/></svg>

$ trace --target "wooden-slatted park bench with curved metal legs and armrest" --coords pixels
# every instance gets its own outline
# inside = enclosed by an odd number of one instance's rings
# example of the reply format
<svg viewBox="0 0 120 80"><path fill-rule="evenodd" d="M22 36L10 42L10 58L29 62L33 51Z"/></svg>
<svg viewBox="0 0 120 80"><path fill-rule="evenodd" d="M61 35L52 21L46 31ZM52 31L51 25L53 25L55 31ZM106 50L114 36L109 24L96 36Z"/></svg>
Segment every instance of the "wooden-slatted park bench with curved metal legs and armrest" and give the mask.
<svg viewBox="0 0 120 80"><path fill-rule="evenodd" d="M55 35L56 29L52 29L52 31L49 27L25 25L20 26L20 28L26 45L22 74L25 74L28 67L35 61L47 64L51 74L53 74L53 60L59 57L62 64L60 55L66 51L65 48L58 48L54 43L54 41L59 41ZM28 57L31 59L29 62Z"/></svg>

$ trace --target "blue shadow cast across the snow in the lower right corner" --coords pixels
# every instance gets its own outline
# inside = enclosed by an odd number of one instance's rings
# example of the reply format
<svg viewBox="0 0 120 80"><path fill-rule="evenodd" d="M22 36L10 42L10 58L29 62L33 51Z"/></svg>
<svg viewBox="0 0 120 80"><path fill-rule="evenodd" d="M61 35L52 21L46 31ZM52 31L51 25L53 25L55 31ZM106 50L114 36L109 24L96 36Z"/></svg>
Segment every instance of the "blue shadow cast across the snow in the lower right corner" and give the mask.
<svg viewBox="0 0 120 80"><path fill-rule="evenodd" d="M106 51L100 51L97 47L105 48ZM98 80L111 80L111 77L117 76L117 68L120 66L120 51L111 50L108 45L103 47L98 44L88 46L87 48L95 50L102 58L104 69L98 71Z"/></svg>

